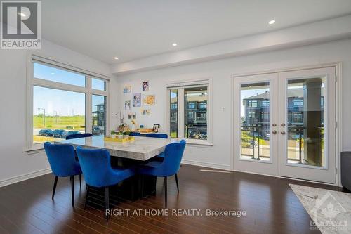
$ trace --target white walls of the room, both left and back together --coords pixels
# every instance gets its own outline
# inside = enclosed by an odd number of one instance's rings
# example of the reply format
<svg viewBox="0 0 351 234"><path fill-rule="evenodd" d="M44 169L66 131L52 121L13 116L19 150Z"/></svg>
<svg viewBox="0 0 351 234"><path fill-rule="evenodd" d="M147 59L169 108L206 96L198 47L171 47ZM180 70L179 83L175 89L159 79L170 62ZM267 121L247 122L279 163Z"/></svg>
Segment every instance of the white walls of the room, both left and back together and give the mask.
<svg viewBox="0 0 351 234"><path fill-rule="evenodd" d="M103 74L110 72L105 63L48 41L44 41L40 52L87 70ZM26 59L26 51L0 50L0 186L16 181L18 176L36 176L48 169L44 152L28 155L24 151ZM151 116L140 117L140 108L132 108L132 111L137 112L138 124L152 126L159 123L162 127L166 123L165 86L168 81L213 77L213 146L189 145L185 152L185 161L207 167L230 169L232 74L337 61L343 62L343 119L350 119L351 108L347 100L351 99L351 40L345 40L116 77L110 82L110 127L115 128L119 122L116 114L122 110L127 98L127 95L122 93L124 85L131 84L132 93L140 92L141 82L149 80L148 93L155 94L157 98L157 105L151 107ZM222 107L225 108L225 112L220 111ZM351 126L344 124L343 150L351 150L348 132L351 132Z"/></svg>

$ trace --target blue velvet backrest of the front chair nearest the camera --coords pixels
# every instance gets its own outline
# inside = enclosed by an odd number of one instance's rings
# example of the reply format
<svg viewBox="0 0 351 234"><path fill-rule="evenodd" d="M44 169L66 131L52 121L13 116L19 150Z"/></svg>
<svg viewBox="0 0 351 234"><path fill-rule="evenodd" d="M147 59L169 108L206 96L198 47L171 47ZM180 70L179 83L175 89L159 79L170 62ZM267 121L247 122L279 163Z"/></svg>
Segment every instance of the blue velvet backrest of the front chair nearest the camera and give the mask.
<svg viewBox="0 0 351 234"><path fill-rule="evenodd" d="M106 186L112 174L110 153L107 150L90 150L80 146L76 152L86 183L95 187Z"/></svg>

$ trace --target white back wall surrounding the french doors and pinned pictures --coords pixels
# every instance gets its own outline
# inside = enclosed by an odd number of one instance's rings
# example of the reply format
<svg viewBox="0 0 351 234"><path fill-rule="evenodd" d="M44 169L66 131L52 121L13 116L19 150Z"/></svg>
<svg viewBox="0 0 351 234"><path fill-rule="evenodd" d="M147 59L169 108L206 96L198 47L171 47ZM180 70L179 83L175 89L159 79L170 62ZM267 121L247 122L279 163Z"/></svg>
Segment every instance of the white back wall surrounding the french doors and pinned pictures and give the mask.
<svg viewBox="0 0 351 234"><path fill-rule="evenodd" d="M140 116L140 108L132 108L137 113L138 124L152 126L154 123L166 122L166 83L174 80L213 77L213 146L187 146L185 162L202 164L208 167L230 169L231 152L230 124L233 74L279 70L290 67L319 65L322 63L343 62L343 119L351 119L351 40L335 41L312 46L258 53L249 56L213 60L206 63L168 67L159 70L124 74L117 77L119 84L119 108L124 107L124 100L131 95L123 93L125 85L132 85L132 93L141 91L143 80L150 82L150 91L155 94L157 105L152 107L151 116ZM221 112L221 108L225 112ZM343 150L351 150L351 125L343 124Z"/></svg>

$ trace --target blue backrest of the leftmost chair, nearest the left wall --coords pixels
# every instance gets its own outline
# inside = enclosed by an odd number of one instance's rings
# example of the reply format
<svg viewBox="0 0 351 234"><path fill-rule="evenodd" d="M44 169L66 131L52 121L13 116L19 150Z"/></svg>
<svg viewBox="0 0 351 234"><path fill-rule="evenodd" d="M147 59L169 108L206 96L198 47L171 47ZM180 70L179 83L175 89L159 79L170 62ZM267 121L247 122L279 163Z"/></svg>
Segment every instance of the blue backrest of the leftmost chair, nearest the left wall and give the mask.
<svg viewBox="0 0 351 234"><path fill-rule="evenodd" d="M77 171L78 162L72 145L46 142L44 148L55 176L72 176Z"/></svg>

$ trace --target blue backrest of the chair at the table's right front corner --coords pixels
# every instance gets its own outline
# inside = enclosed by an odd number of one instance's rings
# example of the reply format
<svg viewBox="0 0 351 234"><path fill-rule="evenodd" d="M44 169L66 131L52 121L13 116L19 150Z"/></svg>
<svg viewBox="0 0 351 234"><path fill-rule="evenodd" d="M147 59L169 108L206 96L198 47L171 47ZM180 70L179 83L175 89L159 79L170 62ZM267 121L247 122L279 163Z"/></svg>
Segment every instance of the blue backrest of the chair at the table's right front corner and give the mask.
<svg viewBox="0 0 351 234"><path fill-rule="evenodd" d="M186 141L181 140L166 145L164 150L164 161L160 167L163 167L165 176L176 174L182 161Z"/></svg>

